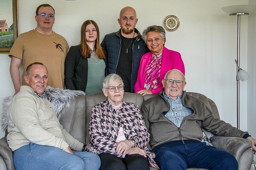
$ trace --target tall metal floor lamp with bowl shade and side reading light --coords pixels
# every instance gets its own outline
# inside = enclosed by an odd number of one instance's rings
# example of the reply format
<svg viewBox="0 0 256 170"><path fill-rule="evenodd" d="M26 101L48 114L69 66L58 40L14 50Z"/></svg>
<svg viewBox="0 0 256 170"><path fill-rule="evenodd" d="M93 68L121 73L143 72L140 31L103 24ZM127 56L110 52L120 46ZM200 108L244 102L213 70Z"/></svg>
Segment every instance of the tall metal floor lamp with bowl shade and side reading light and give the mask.
<svg viewBox="0 0 256 170"><path fill-rule="evenodd" d="M240 68L240 17L243 15L249 15L250 12L255 10L255 5L235 5L221 8L229 16L237 16L237 59L235 59L237 65L237 128L240 129L240 89L239 80L242 82L249 78L249 74Z"/></svg>

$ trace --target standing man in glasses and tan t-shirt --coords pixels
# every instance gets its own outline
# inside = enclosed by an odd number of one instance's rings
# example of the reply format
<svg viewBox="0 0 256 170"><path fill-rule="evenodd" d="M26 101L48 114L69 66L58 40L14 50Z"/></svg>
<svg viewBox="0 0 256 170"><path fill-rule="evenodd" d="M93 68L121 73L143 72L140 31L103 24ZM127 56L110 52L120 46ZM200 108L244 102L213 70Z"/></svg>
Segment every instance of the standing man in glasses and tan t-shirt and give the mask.
<svg viewBox="0 0 256 170"><path fill-rule="evenodd" d="M21 64L23 70L26 70L31 63L43 63L50 75L48 84L53 88L64 86L64 63L69 46L65 38L52 31L54 9L49 4L40 5L36 9L35 20L36 28L20 34L9 53L10 74L15 94L19 92L21 85L25 85L24 79L20 81Z"/></svg>

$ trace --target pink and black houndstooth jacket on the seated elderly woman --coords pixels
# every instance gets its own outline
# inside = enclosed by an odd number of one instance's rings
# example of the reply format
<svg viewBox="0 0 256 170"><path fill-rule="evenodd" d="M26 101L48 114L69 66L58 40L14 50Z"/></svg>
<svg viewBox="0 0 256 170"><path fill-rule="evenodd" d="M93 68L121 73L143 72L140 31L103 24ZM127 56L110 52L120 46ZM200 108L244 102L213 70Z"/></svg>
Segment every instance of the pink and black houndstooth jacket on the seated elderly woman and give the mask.
<svg viewBox="0 0 256 170"><path fill-rule="evenodd" d="M89 124L90 141L87 144L86 151L99 153L110 153L118 155L117 135L119 126L127 140L134 140L137 147L143 149L147 158L155 163L147 144L150 141L150 134L140 114L139 108L133 103L121 102L121 107L115 109L109 100L101 102L92 108L92 118Z"/></svg>

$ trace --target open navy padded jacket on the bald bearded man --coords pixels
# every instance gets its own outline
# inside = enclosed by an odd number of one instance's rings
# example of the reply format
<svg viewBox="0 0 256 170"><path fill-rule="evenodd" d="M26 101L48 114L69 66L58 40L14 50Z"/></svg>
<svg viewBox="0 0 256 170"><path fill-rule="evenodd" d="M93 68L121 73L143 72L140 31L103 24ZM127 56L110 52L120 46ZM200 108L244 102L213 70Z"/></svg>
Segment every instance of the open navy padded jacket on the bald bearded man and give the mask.
<svg viewBox="0 0 256 170"><path fill-rule="evenodd" d="M135 28L135 32L138 34L136 40L133 43L133 66L131 71L131 92L134 92L134 86L137 81L140 59L143 54L149 50L146 43L142 39L139 31ZM121 50L121 29L117 32L113 32L105 35L101 42L101 47L106 57L106 75L117 72L117 64ZM125 69L125 68L124 68Z"/></svg>

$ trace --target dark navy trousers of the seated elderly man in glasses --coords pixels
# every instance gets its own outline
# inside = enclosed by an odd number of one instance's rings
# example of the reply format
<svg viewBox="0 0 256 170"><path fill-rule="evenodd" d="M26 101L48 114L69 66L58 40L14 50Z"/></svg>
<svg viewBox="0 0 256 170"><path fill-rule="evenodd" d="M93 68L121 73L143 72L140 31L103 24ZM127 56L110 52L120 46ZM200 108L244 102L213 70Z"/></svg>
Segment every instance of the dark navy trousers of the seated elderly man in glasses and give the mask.
<svg viewBox="0 0 256 170"><path fill-rule="evenodd" d="M155 153L155 161L162 170L238 169L237 160L231 153L208 146L205 142L156 147L153 152Z"/></svg>

